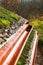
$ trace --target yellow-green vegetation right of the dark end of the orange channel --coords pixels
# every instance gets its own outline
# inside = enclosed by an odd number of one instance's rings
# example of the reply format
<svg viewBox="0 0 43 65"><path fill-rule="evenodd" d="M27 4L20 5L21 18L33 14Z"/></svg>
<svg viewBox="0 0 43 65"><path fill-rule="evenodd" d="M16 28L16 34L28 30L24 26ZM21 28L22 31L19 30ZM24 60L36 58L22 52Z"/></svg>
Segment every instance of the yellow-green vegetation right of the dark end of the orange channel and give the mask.
<svg viewBox="0 0 43 65"><path fill-rule="evenodd" d="M39 34L39 44L43 44L43 16L40 17L39 19L35 19L29 24L34 26L34 29L38 31Z"/></svg>

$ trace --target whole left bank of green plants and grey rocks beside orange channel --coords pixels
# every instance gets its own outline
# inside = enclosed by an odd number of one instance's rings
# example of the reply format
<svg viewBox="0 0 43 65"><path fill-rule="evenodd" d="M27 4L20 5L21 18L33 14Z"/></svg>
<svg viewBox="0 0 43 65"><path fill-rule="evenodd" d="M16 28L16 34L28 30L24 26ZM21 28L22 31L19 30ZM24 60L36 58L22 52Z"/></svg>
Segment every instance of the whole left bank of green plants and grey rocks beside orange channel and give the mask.
<svg viewBox="0 0 43 65"><path fill-rule="evenodd" d="M0 6L0 47L25 21L27 20Z"/></svg>

